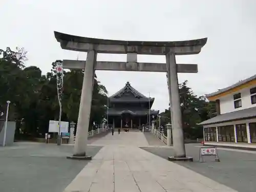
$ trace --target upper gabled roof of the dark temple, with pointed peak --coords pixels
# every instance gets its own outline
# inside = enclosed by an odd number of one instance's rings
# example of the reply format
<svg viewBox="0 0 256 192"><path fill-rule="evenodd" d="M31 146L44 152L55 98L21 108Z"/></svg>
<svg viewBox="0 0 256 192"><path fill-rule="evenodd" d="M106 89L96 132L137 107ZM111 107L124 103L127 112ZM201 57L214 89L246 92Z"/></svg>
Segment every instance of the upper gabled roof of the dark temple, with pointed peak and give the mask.
<svg viewBox="0 0 256 192"><path fill-rule="evenodd" d="M149 98L134 89L127 81L125 86L109 97L110 102L154 102L155 98Z"/></svg>

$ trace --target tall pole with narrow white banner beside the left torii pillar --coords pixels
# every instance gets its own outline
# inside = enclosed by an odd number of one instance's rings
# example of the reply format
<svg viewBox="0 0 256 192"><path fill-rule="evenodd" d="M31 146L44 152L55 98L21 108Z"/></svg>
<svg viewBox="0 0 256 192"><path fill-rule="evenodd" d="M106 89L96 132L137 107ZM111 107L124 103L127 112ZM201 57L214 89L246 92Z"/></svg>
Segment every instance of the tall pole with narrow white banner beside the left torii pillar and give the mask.
<svg viewBox="0 0 256 192"><path fill-rule="evenodd" d="M58 94L58 101L59 101L59 122L58 122L58 139L57 145L61 145L61 131L60 131L60 123L61 123L61 98L63 94L63 68L61 62L56 62L56 79L57 79L57 94Z"/></svg>

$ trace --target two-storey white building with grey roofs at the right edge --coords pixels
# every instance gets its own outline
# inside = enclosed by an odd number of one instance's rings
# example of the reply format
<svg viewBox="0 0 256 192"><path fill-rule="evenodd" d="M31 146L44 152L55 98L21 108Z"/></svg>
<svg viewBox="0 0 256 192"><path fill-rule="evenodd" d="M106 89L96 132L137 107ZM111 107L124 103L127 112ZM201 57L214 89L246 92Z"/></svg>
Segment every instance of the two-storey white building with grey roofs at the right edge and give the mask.
<svg viewBox="0 0 256 192"><path fill-rule="evenodd" d="M206 97L217 116L199 123L205 144L256 148L256 75Z"/></svg>

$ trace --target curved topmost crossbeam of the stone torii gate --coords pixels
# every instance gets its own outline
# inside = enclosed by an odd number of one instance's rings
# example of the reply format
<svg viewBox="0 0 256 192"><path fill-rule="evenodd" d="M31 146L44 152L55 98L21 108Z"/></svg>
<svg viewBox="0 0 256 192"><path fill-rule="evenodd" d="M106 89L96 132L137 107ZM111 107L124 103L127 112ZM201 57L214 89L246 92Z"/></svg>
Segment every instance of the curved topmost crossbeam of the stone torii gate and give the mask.
<svg viewBox="0 0 256 192"><path fill-rule="evenodd" d="M207 38L184 41L126 41L80 37L56 31L54 35L62 49L81 52L94 49L97 53L112 54L165 55L168 52L173 52L175 55L198 54L207 41Z"/></svg>

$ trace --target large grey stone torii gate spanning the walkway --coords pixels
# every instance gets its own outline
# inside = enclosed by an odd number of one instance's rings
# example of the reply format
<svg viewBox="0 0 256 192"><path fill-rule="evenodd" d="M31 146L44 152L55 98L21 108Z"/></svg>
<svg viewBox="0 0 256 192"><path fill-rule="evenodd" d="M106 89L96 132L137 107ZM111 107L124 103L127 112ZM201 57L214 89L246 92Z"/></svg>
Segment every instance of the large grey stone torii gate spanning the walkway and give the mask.
<svg viewBox="0 0 256 192"><path fill-rule="evenodd" d="M80 37L56 31L54 35L62 49L87 52L86 61L63 60L64 69L84 70L74 154L70 158L91 159L86 152L94 73L95 70L109 70L167 74L175 151L175 156L169 160L191 160L185 153L177 73L197 73L198 67L197 64L176 64L175 56L199 54L207 38L185 41L125 41ZM97 61L97 53L127 54L127 60ZM137 54L165 55L166 63L137 62Z"/></svg>

